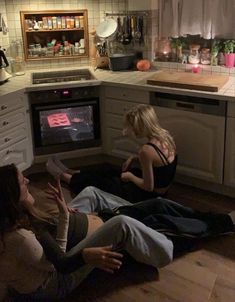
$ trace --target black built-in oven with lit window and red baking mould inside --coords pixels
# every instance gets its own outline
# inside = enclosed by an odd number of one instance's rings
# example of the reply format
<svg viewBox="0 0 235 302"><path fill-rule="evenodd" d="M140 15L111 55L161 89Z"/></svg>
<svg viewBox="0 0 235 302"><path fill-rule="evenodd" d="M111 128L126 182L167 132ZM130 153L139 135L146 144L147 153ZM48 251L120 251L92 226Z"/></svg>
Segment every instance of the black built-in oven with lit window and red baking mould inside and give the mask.
<svg viewBox="0 0 235 302"><path fill-rule="evenodd" d="M29 92L35 155L101 145L99 87Z"/></svg>

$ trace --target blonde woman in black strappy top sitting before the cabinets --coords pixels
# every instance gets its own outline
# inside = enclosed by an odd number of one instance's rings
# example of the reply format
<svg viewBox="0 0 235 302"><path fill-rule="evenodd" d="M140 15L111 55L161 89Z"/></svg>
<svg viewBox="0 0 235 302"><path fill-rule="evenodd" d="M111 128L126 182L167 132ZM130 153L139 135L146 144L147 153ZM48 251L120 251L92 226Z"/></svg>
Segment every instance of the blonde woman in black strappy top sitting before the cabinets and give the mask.
<svg viewBox="0 0 235 302"><path fill-rule="evenodd" d="M103 165L92 172L84 169L76 172L54 156L47 162L48 172L69 184L75 194L87 186L95 186L132 203L164 195L174 179L177 154L174 140L160 126L154 108L140 104L128 111L123 131L130 137L146 138L147 143L138 156L128 158L122 169ZM131 168L134 158L140 168Z"/></svg>

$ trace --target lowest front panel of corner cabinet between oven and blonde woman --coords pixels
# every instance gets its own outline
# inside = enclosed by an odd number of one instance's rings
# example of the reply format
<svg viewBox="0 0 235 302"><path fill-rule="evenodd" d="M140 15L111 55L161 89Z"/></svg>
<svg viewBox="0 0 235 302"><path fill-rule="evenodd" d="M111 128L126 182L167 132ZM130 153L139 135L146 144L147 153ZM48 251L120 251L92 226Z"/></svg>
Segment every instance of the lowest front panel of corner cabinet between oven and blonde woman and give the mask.
<svg viewBox="0 0 235 302"><path fill-rule="evenodd" d="M121 130L108 128L106 130L105 152L107 154L127 158L131 154L136 154L140 144L136 140L129 139L122 135Z"/></svg>

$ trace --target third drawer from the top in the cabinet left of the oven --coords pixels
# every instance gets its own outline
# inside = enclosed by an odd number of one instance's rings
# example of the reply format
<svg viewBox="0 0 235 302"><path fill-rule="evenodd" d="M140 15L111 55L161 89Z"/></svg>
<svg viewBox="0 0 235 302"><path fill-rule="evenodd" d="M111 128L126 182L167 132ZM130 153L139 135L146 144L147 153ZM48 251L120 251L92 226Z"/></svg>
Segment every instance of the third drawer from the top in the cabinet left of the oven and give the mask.
<svg viewBox="0 0 235 302"><path fill-rule="evenodd" d="M0 137L0 150L3 150L27 137L27 129L22 125L14 130L6 131Z"/></svg>

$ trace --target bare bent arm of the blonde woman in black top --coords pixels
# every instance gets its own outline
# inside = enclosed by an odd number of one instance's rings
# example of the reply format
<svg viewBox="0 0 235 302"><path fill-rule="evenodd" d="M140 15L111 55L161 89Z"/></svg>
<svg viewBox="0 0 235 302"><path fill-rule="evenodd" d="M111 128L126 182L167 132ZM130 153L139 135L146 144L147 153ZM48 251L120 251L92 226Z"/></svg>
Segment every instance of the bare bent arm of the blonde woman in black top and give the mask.
<svg viewBox="0 0 235 302"><path fill-rule="evenodd" d="M139 152L139 160L142 169L142 178L131 172L124 172L121 175L123 181L131 181L139 188L152 192L154 189L153 163L145 146Z"/></svg>

